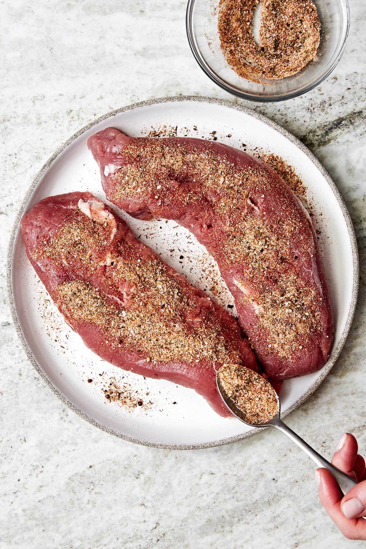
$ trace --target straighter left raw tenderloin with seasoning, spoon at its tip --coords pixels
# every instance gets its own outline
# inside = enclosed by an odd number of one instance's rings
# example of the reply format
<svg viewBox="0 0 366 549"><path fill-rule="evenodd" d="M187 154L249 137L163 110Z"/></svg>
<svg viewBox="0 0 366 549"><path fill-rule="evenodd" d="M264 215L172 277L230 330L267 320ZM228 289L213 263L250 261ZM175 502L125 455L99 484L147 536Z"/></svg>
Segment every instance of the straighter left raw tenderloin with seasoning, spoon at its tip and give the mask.
<svg viewBox="0 0 366 549"><path fill-rule="evenodd" d="M104 360L195 389L222 416L216 369L257 362L239 324L142 244L90 193L41 200L26 253L66 322Z"/></svg>

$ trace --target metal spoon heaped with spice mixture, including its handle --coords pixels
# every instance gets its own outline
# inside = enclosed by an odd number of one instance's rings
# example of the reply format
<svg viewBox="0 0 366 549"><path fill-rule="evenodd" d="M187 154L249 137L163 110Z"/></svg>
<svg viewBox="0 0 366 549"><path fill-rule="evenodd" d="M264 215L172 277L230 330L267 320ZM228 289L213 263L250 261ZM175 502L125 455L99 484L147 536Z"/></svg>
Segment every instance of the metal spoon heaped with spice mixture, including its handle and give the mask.
<svg viewBox="0 0 366 549"><path fill-rule="evenodd" d="M333 474L345 495L357 481L316 452L281 420L279 397L271 383L257 372L238 364L225 364L216 374L217 389L224 404L240 421L250 427L275 427L297 444L318 467Z"/></svg>

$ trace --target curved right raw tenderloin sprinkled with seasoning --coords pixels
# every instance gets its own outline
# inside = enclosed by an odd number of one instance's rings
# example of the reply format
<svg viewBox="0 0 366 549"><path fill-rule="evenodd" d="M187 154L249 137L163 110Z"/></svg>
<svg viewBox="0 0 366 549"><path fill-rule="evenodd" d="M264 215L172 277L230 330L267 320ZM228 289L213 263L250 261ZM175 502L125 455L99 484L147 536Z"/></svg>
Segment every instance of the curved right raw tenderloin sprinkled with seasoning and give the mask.
<svg viewBox="0 0 366 549"><path fill-rule="evenodd" d="M269 166L218 142L132 138L115 128L88 147L109 200L140 219L174 219L206 246L269 377L323 366L334 330L317 238Z"/></svg>

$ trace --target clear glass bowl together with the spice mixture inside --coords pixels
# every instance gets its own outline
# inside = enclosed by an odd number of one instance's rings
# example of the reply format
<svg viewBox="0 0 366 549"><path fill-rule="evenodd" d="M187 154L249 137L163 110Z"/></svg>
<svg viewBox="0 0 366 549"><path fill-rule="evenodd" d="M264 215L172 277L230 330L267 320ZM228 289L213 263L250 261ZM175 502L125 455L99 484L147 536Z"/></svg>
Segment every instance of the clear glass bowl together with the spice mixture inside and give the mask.
<svg viewBox="0 0 366 549"><path fill-rule="evenodd" d="M333 71L350 28L347 0L188 0L187 36L213 82L251 101L306 93Z"/></svg>

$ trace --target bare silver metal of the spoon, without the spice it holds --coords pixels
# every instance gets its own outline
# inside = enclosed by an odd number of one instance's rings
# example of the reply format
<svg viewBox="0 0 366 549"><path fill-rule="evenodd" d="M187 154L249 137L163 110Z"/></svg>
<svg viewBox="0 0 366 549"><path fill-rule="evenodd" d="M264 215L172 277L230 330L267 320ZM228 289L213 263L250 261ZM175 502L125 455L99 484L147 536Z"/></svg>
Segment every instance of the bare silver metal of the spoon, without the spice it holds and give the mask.
<svg viewBox="0 0 366 549"><path fill-rule="evenodd" d="M329 461L325 460L323 456L320 456L318 452L316 452L311 446L305 442L305 440L302 440L299 435L297 435L292 429L290 429L280 418L281 414L281 405L278 398L277 393L273 389L273 393L277 397L278 402L278 413L276 416L274 416L271 421L268 421L267 423L261 423L261 424L254 424L254 423L247 423L244 419L244 413L240 408L235 404L234 400L230 398L225 390L223 389L220 380L218 378L218 373L216 374L216 384L219 394L221 395L222 400L224 401L224 404L229 408L230 412L234 414L240 421L245 423L246 425L250 425L250 427L275 427L276 429L279 429L285 435L287 435L291 440L297 444L303 450L309 457L312 458L312 460L317 464L318 467L324 467L324 469L328 469L331 474L333 474L333 477L336 479L339 488L343 495L347 494L353 486L356 486L357 481L353 478L349 477L346 473L338 469L337 467L334 467Z"/></svg>

